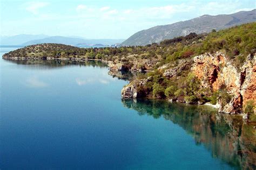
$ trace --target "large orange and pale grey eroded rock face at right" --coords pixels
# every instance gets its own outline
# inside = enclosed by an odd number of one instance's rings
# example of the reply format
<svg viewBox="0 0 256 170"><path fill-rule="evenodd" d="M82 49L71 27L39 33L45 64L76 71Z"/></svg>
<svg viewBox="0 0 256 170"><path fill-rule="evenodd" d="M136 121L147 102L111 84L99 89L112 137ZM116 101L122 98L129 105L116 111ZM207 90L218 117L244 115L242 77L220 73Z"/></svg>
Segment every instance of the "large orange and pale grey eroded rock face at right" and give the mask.
<svg viewBox="0 0 256 170"><path fill-rule="evenodd" d="M255 55L247 56L244 65L239 70L228 61L225 54L206 53L194 57L191 70L199 78L203 88L212 91L226 89L227 93L232 96L229 103L220 104L220 112L239 114L242 112L242 104L248 100L256 101Z"/></svg>

